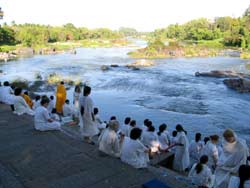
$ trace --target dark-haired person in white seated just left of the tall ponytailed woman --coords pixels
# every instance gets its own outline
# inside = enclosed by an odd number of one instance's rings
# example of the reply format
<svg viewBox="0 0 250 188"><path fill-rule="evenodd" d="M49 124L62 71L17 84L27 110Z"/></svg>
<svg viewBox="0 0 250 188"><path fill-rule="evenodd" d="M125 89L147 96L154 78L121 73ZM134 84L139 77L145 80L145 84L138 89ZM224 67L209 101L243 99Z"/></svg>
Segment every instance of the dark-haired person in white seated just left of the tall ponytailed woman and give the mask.
<svg viewBox="0 0 250 188"><path fill-rule="evenodd" d="M163 123L160 125L159 132L157 133L161 150L165 150L170 146L170 135L166 129L167 125Z"/></svg>

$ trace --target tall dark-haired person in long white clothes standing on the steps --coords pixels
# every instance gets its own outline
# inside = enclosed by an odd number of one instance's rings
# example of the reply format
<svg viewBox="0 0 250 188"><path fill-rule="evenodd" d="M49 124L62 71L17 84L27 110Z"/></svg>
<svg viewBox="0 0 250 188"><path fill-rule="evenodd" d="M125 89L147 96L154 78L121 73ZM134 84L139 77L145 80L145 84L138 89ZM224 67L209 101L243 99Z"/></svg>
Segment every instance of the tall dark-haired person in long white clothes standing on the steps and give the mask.
<svg viewBox="0 0 250 188"><path fill-rule="evenodd" d="M92 141L92 137L98 135L99 130L95 124L95 117L93 113L93 101L90 98L91 88L89 86L84 87L84 96L80 101L81 105L81 115L82 115L82 135L84 137L84 141L89 144L95 144Z"/></svg>

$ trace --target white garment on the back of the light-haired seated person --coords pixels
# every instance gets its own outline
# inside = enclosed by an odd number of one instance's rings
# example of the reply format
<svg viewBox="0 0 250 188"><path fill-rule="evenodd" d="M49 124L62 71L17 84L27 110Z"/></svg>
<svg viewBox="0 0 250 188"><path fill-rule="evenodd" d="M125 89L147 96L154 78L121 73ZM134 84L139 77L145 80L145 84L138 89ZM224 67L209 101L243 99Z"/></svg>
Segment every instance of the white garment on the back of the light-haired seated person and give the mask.
<svg viewBox="0 0 250 188"><path fill-rule="evenodd" d="M100 135L98 142L100 151L114 157L120 157L121 146L114 130L106 128Z"/></svg>

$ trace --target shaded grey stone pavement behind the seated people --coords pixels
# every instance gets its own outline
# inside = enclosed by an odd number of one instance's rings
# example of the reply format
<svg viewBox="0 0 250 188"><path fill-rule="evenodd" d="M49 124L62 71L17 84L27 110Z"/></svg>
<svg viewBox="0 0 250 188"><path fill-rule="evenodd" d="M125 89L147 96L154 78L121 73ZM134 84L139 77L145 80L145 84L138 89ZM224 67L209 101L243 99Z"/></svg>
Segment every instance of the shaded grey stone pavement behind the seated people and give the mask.
<svg viewBox="0 0 250 188"><path fill-rule="evenodd" d="M137 170L60 131L38 132L33 118L0 104L0 188L139 188L153 178L188 187L164 168ZM178 176L180 177L180 176Z"/></svg>

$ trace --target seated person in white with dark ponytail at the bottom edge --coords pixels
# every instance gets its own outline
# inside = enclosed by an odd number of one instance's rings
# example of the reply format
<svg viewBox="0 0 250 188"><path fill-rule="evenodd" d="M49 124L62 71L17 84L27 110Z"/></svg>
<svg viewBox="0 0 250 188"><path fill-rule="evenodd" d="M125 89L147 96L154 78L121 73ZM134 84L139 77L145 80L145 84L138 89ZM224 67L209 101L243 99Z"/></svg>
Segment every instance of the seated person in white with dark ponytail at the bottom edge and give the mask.
<svg viewBox="0 0 250 188"><path fill-rule="evenodd" d="M192 183L198 187L213 187L214 176L211 169L206 165L208 162L208 156L201 156L198 163L195 163L189 171L188 177L192 180Z"/></svg>

